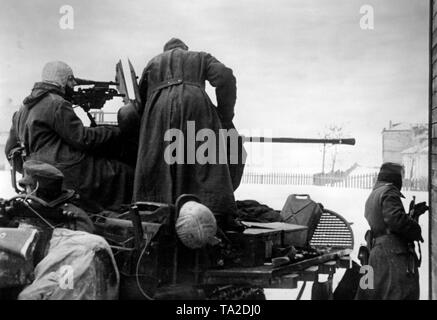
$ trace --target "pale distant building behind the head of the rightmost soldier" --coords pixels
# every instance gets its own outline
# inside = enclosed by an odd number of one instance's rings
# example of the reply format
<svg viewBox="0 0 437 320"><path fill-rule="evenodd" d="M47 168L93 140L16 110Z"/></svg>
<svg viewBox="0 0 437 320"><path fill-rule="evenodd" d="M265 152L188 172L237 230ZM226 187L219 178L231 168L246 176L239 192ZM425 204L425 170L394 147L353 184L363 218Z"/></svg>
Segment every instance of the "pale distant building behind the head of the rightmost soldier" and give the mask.
<svg viewBox="0 0 437 320"><path fill-rule="evenodd" d="M427 143L427 141L428 127L426 124L392 123L390 121L389 127L382 131L383 162L403 163L404 151Z"/></svg>

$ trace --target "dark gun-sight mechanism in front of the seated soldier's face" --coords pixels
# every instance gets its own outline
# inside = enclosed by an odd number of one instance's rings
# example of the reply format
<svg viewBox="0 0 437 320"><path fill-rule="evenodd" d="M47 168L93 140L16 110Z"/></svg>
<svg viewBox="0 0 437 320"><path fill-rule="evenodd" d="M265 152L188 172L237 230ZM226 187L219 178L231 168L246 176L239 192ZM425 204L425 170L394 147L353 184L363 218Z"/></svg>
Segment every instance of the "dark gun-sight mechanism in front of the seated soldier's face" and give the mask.
<svg viewBox="0 0 437 320"><path fill-rule="evenodd" d="M90 114L91 109L102 109L106 101L114 97L124 97L116 89L109 86L117 86L113 81L94 81L75 78L77 85L72 96L72 104L81 107L91 121L91 127L96 127L97 123ZM86 87L84 87L86 86Z"/></svg>

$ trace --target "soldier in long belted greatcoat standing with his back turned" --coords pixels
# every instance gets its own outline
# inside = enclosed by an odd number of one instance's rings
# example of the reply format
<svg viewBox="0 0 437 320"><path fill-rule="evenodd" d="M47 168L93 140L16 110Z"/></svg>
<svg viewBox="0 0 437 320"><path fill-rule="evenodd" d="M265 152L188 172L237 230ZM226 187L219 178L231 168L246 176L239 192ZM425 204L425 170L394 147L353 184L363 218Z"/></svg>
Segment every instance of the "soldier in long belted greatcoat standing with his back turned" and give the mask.
<svg viewBox="0 0 437 320"><path fill-rule="evenodd" d="M205 91L205 80L216 88L217 107ZM231 174L228 164L169 164L164 153L170 142L168 130L178 129L187 136L187 123L212 130L234 128L236 80L231 69L205 52L189 51L179 39L171 39L164 52L146 66L140 80L143 110L139 152L134 182L134 200L174 203L184 193L196 194L215 214L219 225L235 227L234 188L240 176ZM186 141L195 143L199 141ZM186 160L185 150L182 159ZM241 168L241 167L240 167ZM235 173L235 172L234 172ZM238 173L237 173L238 175Z"/></svg>

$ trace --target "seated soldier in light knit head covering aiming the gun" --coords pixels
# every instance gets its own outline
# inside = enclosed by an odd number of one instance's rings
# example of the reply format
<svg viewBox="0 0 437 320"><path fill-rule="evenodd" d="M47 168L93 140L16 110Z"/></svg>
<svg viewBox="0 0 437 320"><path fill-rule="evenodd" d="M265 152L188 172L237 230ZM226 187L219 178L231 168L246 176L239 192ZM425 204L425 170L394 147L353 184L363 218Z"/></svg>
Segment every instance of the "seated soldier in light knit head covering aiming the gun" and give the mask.
<svg viewBox="0 0 437 320"><path fill-rule="evenodd" d="M23 148L26 160L40 160L61 170L64 184L75 190L88 210L117 210L130 203L133 168L99 155L121 143L117 127L85 127L68 101L75 80L64 62L47 63L42 81L12 119L6 155Z"/></svg>

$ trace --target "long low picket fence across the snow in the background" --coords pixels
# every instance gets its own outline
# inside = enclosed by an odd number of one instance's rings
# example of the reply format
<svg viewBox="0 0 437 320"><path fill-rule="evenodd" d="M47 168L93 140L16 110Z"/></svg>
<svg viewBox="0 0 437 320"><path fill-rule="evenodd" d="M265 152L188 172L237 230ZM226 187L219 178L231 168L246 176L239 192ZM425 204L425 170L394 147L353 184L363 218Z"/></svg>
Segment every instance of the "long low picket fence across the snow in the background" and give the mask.
<svg viewBox="0 0 437 320"><path fill-rule="evenodd" d="M337 188L373 188L377 173L357 174L357 175L320 175L308 173L284 173L284 172L245 172L242 178L244 184L272 184L272 185L316 185ZM404 181L403 190L427 191L426 179L414 181Z"/></svg>

